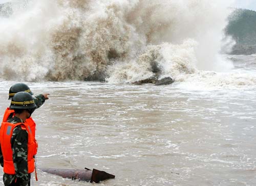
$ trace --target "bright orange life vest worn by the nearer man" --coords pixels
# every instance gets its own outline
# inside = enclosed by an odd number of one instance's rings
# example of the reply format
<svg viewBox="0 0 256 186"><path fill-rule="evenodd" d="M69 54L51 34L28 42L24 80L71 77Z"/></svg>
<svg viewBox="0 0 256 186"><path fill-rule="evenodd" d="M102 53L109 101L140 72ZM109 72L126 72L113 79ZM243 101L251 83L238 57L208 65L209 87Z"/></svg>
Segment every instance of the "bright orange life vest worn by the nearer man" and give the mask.
<svg viewBox="0 0 256 186"><path fill-rule="evenodd" d="M32 131L30 126L27 123L8 123L2 122L0 128L0 143L1 149L4 156L4 172L6 174L15 174L15 168L13 164L13 155L12 155L12 148L11 148L11 138L13 129L20 125L22 129L27 130L28 132L28 173L34 172L35 169L35 160L33 158L35 152L35 143L34 137L32 135Z"/></svg>

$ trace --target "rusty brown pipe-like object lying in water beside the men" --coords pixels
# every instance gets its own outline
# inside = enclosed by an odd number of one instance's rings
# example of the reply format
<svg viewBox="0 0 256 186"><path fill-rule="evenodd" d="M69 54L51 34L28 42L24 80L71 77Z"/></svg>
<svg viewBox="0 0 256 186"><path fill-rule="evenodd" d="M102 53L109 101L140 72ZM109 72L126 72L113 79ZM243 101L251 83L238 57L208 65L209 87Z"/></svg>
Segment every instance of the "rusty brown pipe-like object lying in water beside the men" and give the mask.
<svg viewBox="0 0 256 186"><path fill-rule="evenodd" d="M78 179L79 181L90 181L91 183L99 183L100 181L106 179L115 178L115 175L106 173L104 171L99 171L97 169L85 169L86 170L41 168L40 170L43 172L62 176L63 178Z"/></svg>

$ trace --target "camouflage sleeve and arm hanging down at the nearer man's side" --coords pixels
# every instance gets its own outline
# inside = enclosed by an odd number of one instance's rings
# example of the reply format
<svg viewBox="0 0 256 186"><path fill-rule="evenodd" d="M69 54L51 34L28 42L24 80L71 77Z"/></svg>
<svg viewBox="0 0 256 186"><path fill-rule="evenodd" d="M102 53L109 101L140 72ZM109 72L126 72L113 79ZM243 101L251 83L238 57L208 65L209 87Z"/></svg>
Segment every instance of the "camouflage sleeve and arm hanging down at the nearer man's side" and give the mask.
<svg viewBox="0 0 256 186"><path fill-rule="evenodd" d="M17 126L11 138L15 175L21 182L28 182L28 132Z"/></svg>

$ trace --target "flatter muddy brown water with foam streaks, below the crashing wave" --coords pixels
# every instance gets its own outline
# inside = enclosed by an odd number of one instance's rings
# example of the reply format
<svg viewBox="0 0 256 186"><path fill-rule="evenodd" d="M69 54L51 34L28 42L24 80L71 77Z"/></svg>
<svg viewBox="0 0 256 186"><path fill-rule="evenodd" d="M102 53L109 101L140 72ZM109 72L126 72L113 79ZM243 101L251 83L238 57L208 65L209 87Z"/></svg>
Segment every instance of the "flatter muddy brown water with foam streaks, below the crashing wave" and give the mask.
<svg viewBox="0 0 256 186"><path fill-rule="evenodd" d="M227 57L234 72L254 77L255 57ZM14 83L0 83L2 113ZM38 168L87 167L116 175L100 185L256 184L256 87L250 82L211 89L197 83L187 89L182 83L28 84L35 94L51 94L33 113ZM92 185L37 172L34 185Z"/></svg>

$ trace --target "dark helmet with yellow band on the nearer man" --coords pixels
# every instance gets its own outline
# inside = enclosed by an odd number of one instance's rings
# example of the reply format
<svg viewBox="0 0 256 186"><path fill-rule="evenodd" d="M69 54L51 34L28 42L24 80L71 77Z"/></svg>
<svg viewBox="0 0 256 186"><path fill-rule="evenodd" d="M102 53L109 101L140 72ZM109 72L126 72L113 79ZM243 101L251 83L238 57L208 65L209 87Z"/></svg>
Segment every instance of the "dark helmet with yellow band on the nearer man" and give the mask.
<svg viewBox="0 0 256 186"><path fill-rule="evenodd" d="M11 109L35 109L33 97L27 92L18 92L12 97Z"/></svg>

